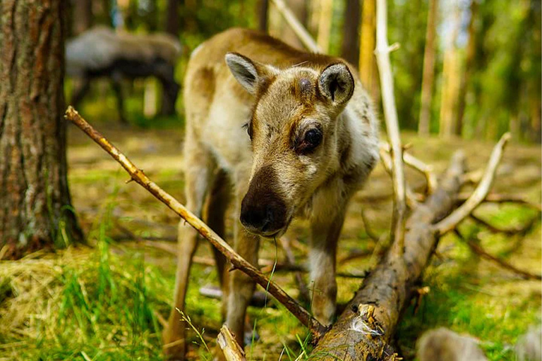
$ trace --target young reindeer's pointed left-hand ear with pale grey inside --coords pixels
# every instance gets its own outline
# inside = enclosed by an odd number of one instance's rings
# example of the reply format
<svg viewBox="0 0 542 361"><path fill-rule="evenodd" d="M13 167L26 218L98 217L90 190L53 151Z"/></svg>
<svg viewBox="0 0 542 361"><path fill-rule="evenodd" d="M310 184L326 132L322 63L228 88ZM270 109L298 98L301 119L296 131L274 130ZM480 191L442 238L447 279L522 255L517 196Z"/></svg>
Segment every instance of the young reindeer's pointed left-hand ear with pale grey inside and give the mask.
<svg viewBox="0 0 542 361"><path fill-rule="evenodd" d="M256 94L258 82L272 73L270 66L252 61L238 53L227 53L226 63L234 78L251 94Z"/></svg>

